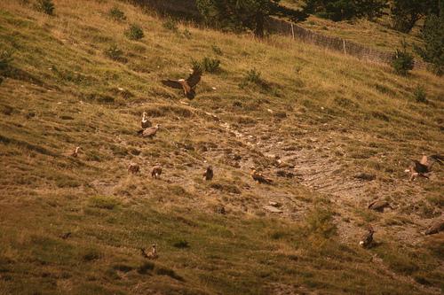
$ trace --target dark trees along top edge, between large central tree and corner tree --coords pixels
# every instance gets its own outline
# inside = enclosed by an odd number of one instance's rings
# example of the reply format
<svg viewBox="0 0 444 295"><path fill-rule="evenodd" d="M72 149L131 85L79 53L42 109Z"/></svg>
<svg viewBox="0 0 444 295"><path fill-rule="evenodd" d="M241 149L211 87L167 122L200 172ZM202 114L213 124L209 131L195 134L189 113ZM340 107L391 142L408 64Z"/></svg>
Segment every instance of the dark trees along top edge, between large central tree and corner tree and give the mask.
<svg viewBox="0 0 444 295"><path fill-rule="evenodd" d="M383 15L386 0L306 0L304 11L334 21L375 19Z"/></svg>

